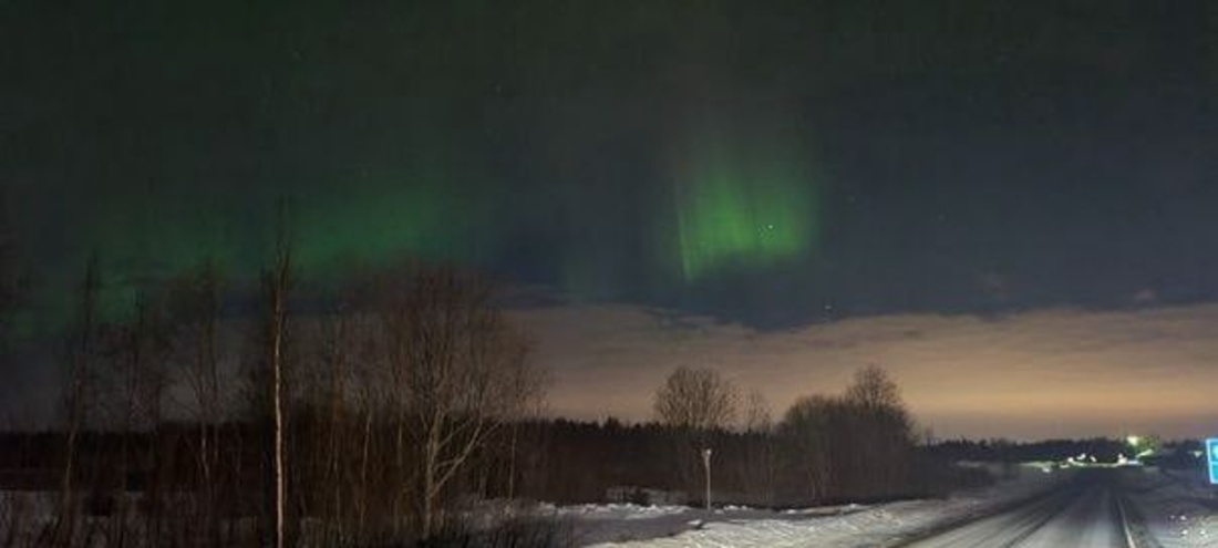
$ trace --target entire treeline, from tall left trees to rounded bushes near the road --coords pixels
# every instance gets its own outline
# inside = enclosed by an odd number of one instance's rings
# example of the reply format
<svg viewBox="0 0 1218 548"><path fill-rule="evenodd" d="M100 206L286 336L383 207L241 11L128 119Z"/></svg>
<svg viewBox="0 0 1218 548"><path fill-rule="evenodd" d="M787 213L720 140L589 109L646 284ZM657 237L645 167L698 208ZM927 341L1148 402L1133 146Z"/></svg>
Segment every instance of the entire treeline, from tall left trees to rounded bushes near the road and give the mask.
<svg viewBox="0 0 1218 548"><path fill-rule="evenodd" d="M306 298L284 241L252 309L205 262L116 314L89 261L60 352L58 426L0 438L0 482L34 493L0 499L0 546L535 546L559 531L487 532L465 510L790 507L980 481L920 449L876 367L777 419L691 368L657 388L655 423L542 418L546 371L486 279L412 263Z"/></svg>

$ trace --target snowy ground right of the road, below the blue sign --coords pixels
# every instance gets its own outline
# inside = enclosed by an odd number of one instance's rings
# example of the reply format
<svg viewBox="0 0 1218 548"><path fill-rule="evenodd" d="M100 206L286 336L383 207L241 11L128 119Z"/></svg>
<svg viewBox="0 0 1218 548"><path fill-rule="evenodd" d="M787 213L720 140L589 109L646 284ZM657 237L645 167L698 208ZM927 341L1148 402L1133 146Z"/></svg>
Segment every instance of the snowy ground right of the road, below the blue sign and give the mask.
<svg viewBox="0 0 1218 548"><path fill-rule="evenodd" d="M1125 477L1125 492L1164 548L1218 548L1218 487L1206 471L1145 469Z"/></svg>

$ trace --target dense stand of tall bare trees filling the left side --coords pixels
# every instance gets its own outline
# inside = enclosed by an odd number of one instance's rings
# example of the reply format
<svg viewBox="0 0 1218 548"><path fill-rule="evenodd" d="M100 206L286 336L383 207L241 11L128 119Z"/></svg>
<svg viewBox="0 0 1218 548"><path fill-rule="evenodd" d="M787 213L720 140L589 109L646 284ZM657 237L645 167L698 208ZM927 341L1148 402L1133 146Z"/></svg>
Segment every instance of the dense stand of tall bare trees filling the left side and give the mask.
<svg viewBox="0 0 1218 548"><path fill-rule="evenodd" d="M4 446L54 494L0 501L0 542L402 546L463 529L473 463L543 396L525 334L453 268L384 269L307 303L294 274L280 246L256 311L234 313L205 263L114 314L90 259L57 431Z"/></svg>

